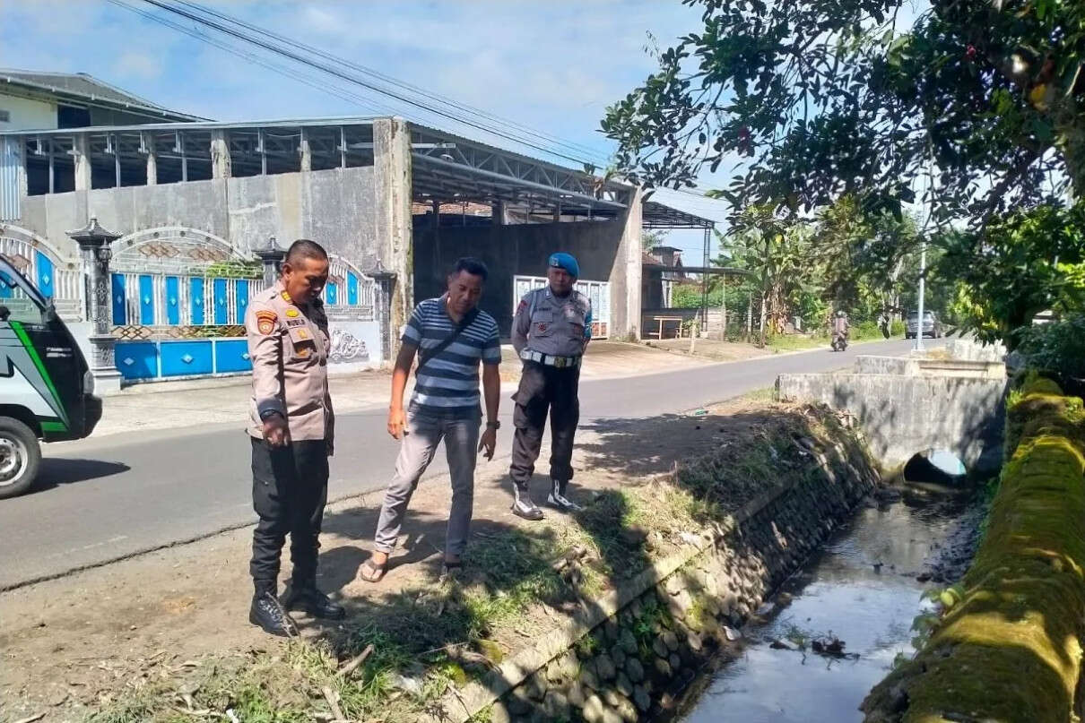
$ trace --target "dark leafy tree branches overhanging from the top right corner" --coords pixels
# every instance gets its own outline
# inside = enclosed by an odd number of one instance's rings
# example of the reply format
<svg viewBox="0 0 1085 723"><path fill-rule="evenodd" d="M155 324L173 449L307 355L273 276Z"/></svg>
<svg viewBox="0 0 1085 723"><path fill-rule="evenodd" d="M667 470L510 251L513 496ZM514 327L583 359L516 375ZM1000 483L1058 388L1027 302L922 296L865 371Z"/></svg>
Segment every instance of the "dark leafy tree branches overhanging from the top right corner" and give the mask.
<svg viewBox="0 0 1085 723"><path fill-rule="evenodd" d="M1080 0L933 0L915 18L906 0L684 4L703 28L602 121L636 181L688 186L738 158L736 211L852 194L901 218L926 188L936 220L1085 192Z"/></svg>

